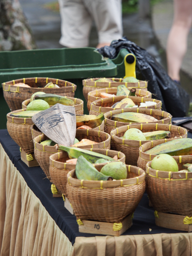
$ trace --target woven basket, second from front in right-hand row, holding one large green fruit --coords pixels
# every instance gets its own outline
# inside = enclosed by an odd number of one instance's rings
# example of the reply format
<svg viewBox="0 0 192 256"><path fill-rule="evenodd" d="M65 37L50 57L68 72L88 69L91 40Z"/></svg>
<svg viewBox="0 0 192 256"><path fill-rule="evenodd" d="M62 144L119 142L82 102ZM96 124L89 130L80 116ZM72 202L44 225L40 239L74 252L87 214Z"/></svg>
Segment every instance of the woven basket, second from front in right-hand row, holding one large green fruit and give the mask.
<svg viewBox="0 0 192 256"><path fill-rule="evenodd" d="M180 139L180 137L177 137L177 139ZM148 142L144 143L143 145L141 145L140 148L139 148L139 157L138 157L138 160L137 160L137 166L139 166L140 168L145 170L146 169L146 164L149 161L153 160L154 157L156 157L155 154L146 154L145 151L148 151L149 149L154 148L155 146L157 146L159 144L168 142L169 140L174 140L174 139L151 140L151 141L148 141Z"/></svg>

